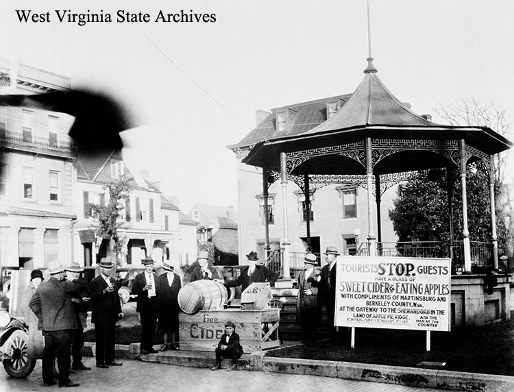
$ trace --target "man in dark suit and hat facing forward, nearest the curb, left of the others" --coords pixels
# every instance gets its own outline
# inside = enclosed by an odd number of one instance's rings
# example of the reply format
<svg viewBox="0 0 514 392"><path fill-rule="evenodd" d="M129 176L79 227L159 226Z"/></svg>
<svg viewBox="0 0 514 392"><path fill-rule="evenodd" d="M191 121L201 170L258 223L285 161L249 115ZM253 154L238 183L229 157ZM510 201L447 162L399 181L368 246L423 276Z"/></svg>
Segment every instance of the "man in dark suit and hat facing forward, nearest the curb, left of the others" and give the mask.
<svg viewBox="0 0 514 392"><path fill-rule="evenodd" d="M100 275L89 282L89 297L92 302L91 321L95 324L97 367L121 366L114 360L115 326L123 318L116 280L110 278L114 267L108 258L99 262Z"/></svg>

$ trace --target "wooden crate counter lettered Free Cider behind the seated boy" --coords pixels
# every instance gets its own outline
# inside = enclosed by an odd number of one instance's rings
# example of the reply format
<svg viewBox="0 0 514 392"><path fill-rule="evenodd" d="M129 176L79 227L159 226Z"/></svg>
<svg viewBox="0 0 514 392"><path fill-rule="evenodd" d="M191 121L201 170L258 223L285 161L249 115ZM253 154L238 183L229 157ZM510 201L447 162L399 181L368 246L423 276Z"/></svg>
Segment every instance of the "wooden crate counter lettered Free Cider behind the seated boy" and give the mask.
<svg viewBox="0 0 514 392"><path fill-rule="evenodd" d="M200 310L196 315L179 314L180 350L214 352L225 322L236 326L243 352L255 352L280 346L278 323L280 309Z"/></svg>

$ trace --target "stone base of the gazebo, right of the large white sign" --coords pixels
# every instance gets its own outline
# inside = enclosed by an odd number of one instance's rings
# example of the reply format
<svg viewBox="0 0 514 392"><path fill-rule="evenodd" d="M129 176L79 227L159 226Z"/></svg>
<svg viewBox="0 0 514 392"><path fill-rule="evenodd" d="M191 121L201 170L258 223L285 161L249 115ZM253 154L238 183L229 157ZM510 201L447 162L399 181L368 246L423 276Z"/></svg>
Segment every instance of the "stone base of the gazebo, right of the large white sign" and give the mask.
<svg viewBox="0 0 514 392"><path fill-rule="evenodd" d="M453 275L452 327L484 326L511 319L512 275L495 276L492 286L487 275Z"/></svg>

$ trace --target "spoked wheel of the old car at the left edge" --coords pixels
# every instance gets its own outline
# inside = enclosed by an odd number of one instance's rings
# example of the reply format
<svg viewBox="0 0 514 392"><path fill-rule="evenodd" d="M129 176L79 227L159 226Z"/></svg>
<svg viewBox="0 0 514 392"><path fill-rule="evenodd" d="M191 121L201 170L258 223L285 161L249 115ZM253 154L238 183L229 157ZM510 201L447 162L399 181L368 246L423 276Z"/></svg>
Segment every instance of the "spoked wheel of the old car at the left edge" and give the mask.
<svg viewBox="0 0 514 392"><path fill-rule="evenodd" d="M10 359L3 360L3 367L9 376L25 378L34 370L36 360L29 358L28 341L29 336L25 332L17 330L12 332L8 341L3 345L3 351L10 356Z"/></svg>

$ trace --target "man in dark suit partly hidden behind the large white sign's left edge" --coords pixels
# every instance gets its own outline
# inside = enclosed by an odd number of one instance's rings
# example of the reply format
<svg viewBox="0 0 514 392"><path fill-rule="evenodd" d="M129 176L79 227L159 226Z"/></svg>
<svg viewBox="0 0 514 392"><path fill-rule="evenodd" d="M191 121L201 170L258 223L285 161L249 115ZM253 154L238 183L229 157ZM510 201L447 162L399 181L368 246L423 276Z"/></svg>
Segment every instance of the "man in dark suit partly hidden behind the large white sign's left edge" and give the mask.
<svg viewBox="0 0 514 392"><path fill-rule="evenodd" d="M336 327L334 326L335 306L336 306L336 259L339 251L336 247L329 246L325 251L327 264L321 269L317 276L308 278L308 282L313 287L318 288L317 307L321 315L323 305L327 310L328 333L330 342L337 343Z"/></svg>

